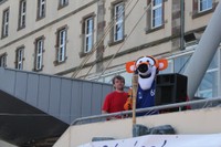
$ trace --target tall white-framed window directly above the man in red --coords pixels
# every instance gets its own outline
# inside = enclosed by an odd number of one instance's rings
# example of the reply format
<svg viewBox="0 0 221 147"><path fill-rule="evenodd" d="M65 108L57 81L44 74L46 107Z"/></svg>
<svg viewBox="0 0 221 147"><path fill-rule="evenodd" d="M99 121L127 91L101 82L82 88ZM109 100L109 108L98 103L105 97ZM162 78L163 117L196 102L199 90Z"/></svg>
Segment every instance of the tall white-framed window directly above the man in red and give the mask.
<svg viewBox="0 0 221 147"><path fill-rule="evenodd" d="M114 6L114 42L124 39L124 3Z"/></svg>

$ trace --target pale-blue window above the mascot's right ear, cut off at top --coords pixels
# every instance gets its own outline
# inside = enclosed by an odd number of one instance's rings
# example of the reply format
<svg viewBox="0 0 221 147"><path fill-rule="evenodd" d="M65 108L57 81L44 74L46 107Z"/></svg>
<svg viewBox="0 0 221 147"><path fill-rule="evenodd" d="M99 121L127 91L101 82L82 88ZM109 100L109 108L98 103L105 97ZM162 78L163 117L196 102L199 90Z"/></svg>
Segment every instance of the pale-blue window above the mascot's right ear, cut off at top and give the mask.
<svg viewBox="0 0 221 147"><path fill-rule="evenodd" d="M152 0L151 2L151 28L162 24L162 0Z"/></svg>

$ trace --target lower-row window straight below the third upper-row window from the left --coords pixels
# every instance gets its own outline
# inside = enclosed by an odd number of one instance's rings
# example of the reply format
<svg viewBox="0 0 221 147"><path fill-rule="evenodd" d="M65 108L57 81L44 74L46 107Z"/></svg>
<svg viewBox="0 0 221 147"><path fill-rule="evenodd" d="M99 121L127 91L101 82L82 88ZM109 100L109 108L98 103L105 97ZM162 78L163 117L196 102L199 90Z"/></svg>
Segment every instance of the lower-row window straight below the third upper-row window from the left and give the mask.
<svg viewBox="0 0 221 147"><path fill-rule="evenodd" d="M35 40L35 60L34 71L41 71L43 67L43 51L44 51L44 38L41 36Z"/></svg>

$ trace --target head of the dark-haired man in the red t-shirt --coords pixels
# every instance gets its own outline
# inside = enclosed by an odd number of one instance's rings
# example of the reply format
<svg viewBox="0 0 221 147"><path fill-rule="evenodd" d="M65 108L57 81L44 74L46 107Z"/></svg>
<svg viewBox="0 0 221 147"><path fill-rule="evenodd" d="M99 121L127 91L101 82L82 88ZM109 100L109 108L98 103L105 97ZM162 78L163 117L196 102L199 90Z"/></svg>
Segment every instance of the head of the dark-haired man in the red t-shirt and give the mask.
<svg viewBox="0 0 221 147"><path fill-rule="evenodd" d="M125 78L120 75L116 75L113 77L112 83L116 91L123 91L125 85Z"/></svg>

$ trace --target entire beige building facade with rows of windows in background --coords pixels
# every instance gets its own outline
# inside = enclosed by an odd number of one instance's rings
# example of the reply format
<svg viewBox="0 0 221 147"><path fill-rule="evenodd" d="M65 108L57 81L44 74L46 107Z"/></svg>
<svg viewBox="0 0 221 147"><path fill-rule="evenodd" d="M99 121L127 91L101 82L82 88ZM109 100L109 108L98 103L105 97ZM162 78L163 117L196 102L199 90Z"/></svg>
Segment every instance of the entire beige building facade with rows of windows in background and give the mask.
<svg viewBox="0 0 221 147"><path fill-rule="evenodd" d="M1 0L0 66L129 86L125 63L152 55L182 73L219 1ZM219 48L197 96L221 95L220 63Z"/></svg>

